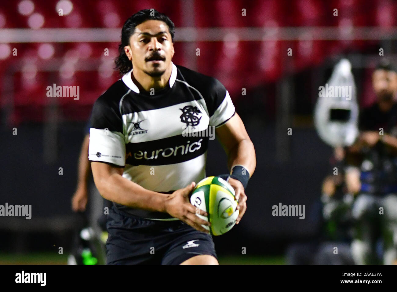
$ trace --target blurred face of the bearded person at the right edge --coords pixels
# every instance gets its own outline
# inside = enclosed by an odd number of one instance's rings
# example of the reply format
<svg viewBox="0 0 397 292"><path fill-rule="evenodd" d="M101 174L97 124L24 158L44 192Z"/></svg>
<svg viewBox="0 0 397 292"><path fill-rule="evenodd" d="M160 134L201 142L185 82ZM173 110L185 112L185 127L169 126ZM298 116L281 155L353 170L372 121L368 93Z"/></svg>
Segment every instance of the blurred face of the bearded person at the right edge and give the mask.
<svg viewBox="0 0 397 292"><path fill-rule="evenodd" d="M379 101L393 99L396 91L397 74L394 71L375 70L372 75L372 85Z"/></svg>

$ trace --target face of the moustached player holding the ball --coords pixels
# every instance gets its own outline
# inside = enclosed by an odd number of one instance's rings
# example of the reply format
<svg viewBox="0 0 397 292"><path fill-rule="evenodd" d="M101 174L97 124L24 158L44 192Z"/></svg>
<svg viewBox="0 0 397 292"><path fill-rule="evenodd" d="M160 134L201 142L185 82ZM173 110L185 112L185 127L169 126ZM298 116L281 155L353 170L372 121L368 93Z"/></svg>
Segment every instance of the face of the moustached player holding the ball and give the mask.
<svg viewBox="0 0 397 292"><path fill-rule="evenodd" d="M130 45L124 47L134 70L160 77L170 66L174 54L168 25L160 20L147 20L135 27Z"/></svg>

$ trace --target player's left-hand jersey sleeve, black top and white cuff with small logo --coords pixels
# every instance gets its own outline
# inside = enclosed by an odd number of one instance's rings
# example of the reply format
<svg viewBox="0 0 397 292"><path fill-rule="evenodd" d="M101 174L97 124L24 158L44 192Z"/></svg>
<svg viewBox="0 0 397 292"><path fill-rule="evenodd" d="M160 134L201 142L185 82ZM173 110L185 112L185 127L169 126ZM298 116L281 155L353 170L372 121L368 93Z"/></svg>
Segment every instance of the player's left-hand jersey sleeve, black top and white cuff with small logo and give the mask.
<svg viewBox="0 0 397 292"><path fill-rule="evenodd" d="M88 159L125 166L125 139L118 106L104 97L94 104L91 115Z"/></svg>

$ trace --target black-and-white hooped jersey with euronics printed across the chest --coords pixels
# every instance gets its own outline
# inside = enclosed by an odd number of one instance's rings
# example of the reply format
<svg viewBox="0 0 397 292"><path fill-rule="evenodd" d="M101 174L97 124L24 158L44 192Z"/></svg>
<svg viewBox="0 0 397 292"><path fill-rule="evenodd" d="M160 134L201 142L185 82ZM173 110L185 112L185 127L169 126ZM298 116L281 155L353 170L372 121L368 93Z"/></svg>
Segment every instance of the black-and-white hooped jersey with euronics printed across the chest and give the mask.
<svg viewBox="0 0 397 292"><path fill-rule="evenodd" d="M162 193L205 178L209 137L203 133L211 133L209 127L222 126L235 114L224 85L172 63L168 86L151 95L139 92L131 72L93 106L89 160L123 167L124 178ZM114 205L148 219L178 220L162 212Z"/></svg>

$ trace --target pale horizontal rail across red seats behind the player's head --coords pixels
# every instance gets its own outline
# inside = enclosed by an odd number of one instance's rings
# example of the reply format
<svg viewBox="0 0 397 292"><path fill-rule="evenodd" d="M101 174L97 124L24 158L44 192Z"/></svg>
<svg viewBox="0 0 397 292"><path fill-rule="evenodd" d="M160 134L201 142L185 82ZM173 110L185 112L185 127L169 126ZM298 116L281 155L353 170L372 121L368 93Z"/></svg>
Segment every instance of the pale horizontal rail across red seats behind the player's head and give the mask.
<svg viewBox="0 0 397 292"><path fill-rule="evenodd" d="M175 41L310 41L397 39L397 27L179 27ZM120 42L120 28L0 29L0 43Z"/></svg>

